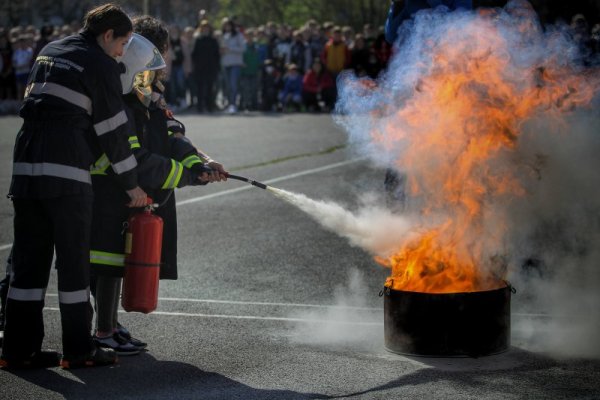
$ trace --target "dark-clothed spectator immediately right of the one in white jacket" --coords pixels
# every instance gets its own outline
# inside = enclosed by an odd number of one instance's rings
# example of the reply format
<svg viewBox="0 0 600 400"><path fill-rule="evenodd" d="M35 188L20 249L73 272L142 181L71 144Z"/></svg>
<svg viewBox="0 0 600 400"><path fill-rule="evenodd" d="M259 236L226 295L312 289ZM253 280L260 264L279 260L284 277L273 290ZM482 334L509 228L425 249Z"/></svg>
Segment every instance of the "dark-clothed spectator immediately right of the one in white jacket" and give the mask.
<svg viewBox="0 0 600 400"><path fill-rule="evenodd" d="M240 78L240 109L253 111L258 109L258 73L260 71L260 53L254 43L254 30L246 30L246 51L244 66Z"/></svg>

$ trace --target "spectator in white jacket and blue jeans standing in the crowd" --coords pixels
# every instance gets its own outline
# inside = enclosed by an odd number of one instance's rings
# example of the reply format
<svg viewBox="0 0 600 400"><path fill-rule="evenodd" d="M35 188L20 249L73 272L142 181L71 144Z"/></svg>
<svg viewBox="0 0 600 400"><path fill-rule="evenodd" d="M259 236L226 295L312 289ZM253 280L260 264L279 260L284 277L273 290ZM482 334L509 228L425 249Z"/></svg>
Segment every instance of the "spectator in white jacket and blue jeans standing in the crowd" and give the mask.
<svg viewBox="0 0 600 400"><path fill-rule="evenodd" d="M229 18L224 18L222 23L223 38L221 39L221 66L225 73L227 100L229 107L227 112L237 112L236 99L240 72L244 65L243 55L246 50L246 40L237 31L235 24Z"/></svg>

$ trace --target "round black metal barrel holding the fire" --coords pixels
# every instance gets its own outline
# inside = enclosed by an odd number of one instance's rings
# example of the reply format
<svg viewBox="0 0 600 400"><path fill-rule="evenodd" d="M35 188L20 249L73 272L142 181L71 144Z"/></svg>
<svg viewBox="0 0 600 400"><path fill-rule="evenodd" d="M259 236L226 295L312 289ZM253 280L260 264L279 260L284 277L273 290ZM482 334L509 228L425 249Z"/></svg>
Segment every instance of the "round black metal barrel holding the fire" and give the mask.
<svg viewBox="0 0 600 400"><path fill-rule="evenodd" d="M384 288L385 346L394 353L479 357L510 346L511 287L420 293Z"/></svg>

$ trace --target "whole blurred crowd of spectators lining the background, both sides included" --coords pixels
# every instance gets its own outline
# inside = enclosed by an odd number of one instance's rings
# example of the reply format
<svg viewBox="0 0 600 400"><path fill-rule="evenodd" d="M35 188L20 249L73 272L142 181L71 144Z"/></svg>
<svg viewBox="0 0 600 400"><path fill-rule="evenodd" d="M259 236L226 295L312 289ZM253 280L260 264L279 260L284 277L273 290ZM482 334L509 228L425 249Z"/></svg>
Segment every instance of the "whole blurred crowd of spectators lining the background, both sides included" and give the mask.
<svg viewBox="0 0 600 400"><path fill-rule="evenodd" d="M582 57L600 53L600 24L571 21ZM29 68L48 42L77 32L62 27L0 27L0 114L17 112ZM329 111L336 101L336 78L344 70L377 75L392 46L382 27L362 31L332 22L307 21L300 28L268 22L242 27L224 18L214 26L201 14L198 26L170 29L166 99L177 111Z"/></svg>

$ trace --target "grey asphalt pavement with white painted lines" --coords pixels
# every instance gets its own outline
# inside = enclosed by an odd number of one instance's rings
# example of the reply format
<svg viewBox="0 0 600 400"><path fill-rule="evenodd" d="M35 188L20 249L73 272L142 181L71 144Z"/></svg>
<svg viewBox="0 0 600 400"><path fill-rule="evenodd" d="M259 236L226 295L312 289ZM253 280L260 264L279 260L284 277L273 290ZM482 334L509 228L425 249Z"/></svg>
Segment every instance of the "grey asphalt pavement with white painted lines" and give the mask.
<svg viewBox="0 0 600 400"><path fill-rule="evenodd" d="M352 209L381 193L383 171L347 145L329 115L184 114L187 135L236 174ZM20 125L0 118L6 192ZM507 352L427 358L387 351L388 273L363 250L281 199L228 181L176 194L179 279L158 310L120 314L149 343L114 367L0 370L2 399L598 399L600 361L551 355L515 328ZM4 197L2 197L4 198ZM0 258L12 242L0 201ZM513 296L513 325L531 318ZM44 347L60 349L53 272Z"/></svg>

